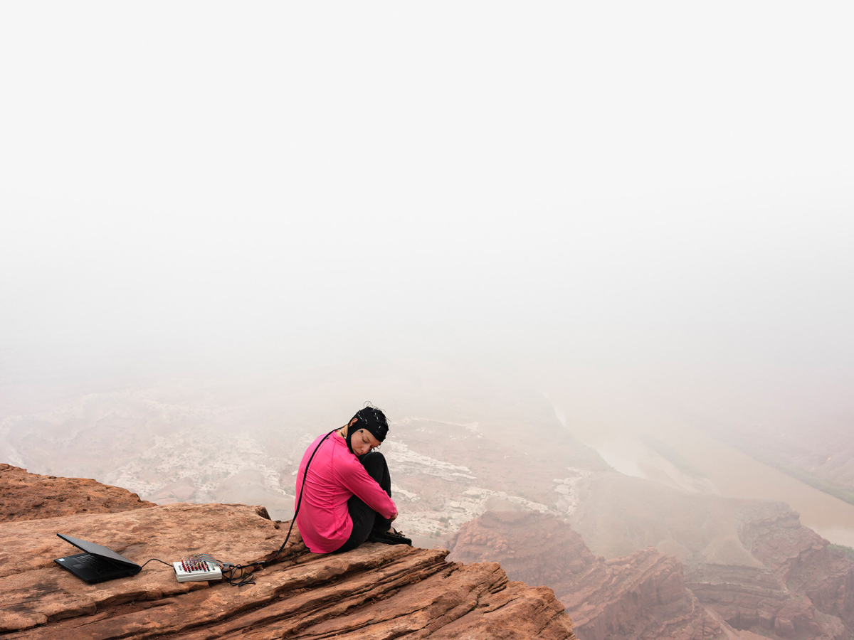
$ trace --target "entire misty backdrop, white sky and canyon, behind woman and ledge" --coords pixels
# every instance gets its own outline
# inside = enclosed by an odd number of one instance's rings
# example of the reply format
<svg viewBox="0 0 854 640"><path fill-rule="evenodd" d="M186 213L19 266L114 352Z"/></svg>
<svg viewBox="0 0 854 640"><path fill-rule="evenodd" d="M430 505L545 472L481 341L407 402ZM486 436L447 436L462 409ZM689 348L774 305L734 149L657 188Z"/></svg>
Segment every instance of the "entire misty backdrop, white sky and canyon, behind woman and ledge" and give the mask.
<svg viewBox="0 0 854 640"><path fill-rule="evenodd" d="M0 463L284 521L370 400L401 528L582 640L850 635L852 25L4 3Z"/></svg>

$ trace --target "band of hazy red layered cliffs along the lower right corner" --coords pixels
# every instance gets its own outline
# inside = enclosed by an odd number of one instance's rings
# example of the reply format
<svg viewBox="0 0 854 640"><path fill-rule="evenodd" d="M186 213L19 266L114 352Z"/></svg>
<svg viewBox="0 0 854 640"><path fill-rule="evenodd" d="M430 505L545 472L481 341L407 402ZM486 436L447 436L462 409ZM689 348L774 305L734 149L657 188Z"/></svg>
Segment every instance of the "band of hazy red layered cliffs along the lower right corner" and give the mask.
<svg viewBox="0 0 854 640"><path fill-rule="evenodd" d="M489 512L460 529L450 557L499 561L512 579L551 586L581 640L854 637L854 563L828 550L786 505L737 504L730 517L751 563L697 554L683 568L653 549L605 560L553 516Z"/></svg>

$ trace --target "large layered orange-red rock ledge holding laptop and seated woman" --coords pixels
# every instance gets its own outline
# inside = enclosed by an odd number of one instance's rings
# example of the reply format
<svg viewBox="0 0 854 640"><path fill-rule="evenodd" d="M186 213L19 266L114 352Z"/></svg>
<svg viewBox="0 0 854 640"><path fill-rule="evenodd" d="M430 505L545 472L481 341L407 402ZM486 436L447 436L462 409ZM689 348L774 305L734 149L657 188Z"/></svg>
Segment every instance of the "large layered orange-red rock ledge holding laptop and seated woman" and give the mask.
<svg viewBox="0 0 854 640"><path fill-rule="evenodd" d="M323 556L309 553L295 532L285 559L257 572L254 585L179 583L172 567L158 562L131 578L88 585L53 562L76 551L57 532L106 545L138 564L200 552L254 561L284 539L266 509L239 504L5 522L3 637L575 638L553 591L511 582L496 563L448 562L445 550L365 544Z"/></svg>

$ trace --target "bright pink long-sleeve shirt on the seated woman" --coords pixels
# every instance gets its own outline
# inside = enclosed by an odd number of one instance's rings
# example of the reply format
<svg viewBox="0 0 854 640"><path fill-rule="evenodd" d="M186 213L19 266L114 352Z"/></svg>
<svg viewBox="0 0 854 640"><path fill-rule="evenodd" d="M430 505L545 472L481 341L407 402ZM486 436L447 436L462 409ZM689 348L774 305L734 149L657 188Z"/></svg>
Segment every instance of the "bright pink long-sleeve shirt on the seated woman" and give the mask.
<svg viewBox="0 0 854 640"><path fill-rule="evenodd" d="M300 470L296 474L294 506L300 499L308 458L323 437L321 435L314 440L302 456ZM397 513L389 495L377 484L377 480L368 475L359 458L350 453L347 442L335 432L320 445L308 468L305 496L302 497L300 513L296 516L296 526L310 551L330 553L347 541L353 531L347 501L354 495L384 518Z"/></svg>

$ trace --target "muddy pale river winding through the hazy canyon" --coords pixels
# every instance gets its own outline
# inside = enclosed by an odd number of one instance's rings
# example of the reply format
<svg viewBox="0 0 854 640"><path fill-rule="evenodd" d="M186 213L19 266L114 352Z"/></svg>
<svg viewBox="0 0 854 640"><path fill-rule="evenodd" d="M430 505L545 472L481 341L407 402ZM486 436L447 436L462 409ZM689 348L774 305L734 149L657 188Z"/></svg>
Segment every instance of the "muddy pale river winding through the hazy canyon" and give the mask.
<svg viewBox="0 0 854 640"><path fill-rule="evenodd" d="M724 496L764 498L788 503L800 514L801 523L827 538L831 543L854 547L854 505L820 492L811 486L766 464L759 463L732 446L712 438L708 433L684 423L667 419L644 420L640 424L628 420L582 418L574 409L577 396L565 389L548 389L545 394L553 404L555 414L570 432L584 444L594 448L611 467L624 474L649 480L665 480L679 485L680 479L666 463L656 464L660 457L647 445L652 435L670 445L705 474L705 487L682 486L689 491L711 490ZM596 411L582 411L588 416ZM640 412L642 415L643 412ZM607 416L604 408L600 415ZM649 413L647 412L648 416ZM567 419L567 416L570 416ZM664 469L662 467L665 467ZM684 480L684 477L682 478ZM711 481L711 486L710 485Z"/></svg>

